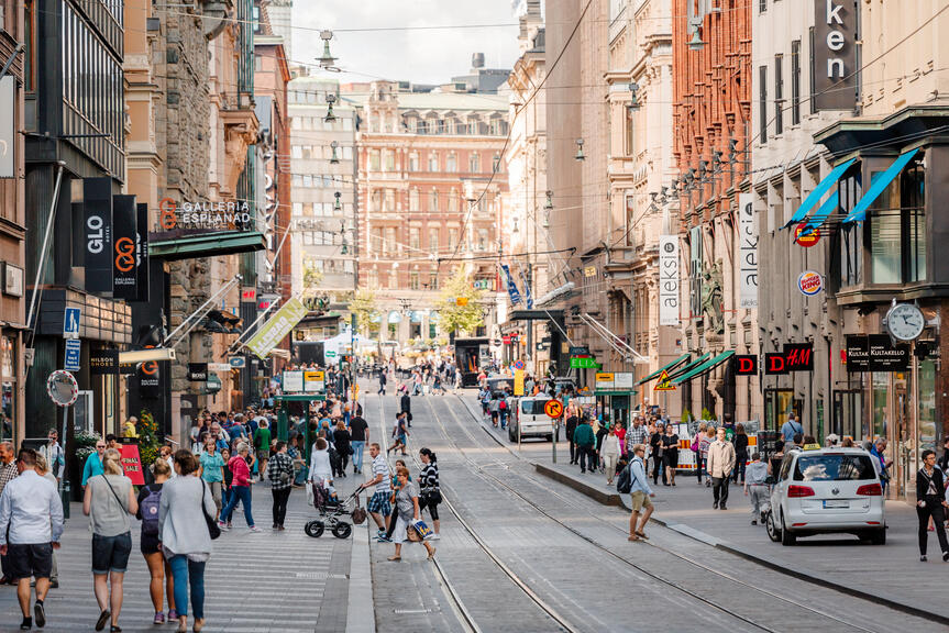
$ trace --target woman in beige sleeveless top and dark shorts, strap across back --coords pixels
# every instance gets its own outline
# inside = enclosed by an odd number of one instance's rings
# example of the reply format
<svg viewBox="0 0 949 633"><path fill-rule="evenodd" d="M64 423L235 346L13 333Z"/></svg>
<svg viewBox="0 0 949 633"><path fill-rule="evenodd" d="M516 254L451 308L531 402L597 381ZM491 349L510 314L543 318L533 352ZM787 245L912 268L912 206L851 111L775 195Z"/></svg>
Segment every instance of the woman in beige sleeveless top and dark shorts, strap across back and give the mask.
<svg viewBox="0 0 949 633"><path fill-rule="evenodd" d="M119 613L132 553L130 517L137 512L132 480L122 471L122 455L115 448L107 448L102 456L102 474L89 478L82 498L82 513L89 517L92 531L92 586L99 603L96 631L101 631L110 620L109 630L121 631Z"/></svg>

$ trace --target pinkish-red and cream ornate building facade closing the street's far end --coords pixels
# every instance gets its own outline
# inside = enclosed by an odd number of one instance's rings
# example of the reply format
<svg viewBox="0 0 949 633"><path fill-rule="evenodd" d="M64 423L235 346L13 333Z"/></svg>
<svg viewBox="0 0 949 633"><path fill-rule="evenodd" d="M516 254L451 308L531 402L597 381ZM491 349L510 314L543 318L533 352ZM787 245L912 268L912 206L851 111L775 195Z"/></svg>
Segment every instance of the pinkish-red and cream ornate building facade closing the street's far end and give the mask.
<svg viewBox="0 0 949 633"><path fill-rule="evenodd" d="M449 90L451 87L448 87ZM409 87L410 90L410 87ZM343 95L345 97L345 93ZM508 184L507 99L412 92L376 81L357 101L358 281L375 292L383 341L441 333L439 288L463 268L494 288ZM486 307L487 331L494 310Z"/></svg>

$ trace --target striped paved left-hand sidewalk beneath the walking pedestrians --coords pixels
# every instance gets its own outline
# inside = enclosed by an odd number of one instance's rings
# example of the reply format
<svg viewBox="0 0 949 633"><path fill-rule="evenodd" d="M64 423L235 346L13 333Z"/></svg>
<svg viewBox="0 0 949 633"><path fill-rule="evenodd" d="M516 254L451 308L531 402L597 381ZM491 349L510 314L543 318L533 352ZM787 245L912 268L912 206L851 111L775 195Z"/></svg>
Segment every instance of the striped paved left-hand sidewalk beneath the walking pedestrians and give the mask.
<svg viewBox="0 0 949 633"><path fill-rule="evenodd" d="M302 525L313 511L305 498L304 489L294 490L287 530L272 532L269 486L254 486L254 519L263 532L249 532L243 512L238 511L233 530L214 542L205 577L205 631L344 630L352 538L341 541L330 534L308 537ZM92 596L91 535L87 524L81 504L73 503L63 547L57 553L59 588L51 589L46 599L45 631L91 631L99 615ZM133 548L119 624L128 632L174 631L174 625L152 624L148 570L139 553L139 523L133 521ZM15 589L0 587L0 631L19 629L21 618Z"/></svg>

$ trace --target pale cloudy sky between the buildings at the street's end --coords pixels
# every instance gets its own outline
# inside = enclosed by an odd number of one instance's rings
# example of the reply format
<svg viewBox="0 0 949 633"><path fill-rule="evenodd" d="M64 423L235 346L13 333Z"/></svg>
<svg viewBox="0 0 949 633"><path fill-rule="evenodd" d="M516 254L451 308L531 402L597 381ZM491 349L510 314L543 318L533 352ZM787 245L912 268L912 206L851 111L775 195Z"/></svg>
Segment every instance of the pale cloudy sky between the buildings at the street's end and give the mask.
<svg viewBox="0 0 949 633"><path fill-rule="evenodd" d="M501 24L484 29L347 31L367 27ZM331 29L340 81L374 78L444 84L471 68L473 53L488 68L510 68L518 57L511 0L295 0L294 26ZM319 33L294 29L293 60L322 54Z"/></svg>

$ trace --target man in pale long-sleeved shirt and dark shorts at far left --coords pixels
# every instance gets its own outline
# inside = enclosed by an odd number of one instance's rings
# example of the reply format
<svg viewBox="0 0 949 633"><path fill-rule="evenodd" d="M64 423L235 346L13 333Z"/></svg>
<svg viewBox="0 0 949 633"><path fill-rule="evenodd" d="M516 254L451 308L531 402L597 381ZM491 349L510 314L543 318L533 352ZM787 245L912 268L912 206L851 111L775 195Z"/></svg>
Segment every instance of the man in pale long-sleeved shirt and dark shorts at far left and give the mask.
<svg viewBox="0 0 949 633"><path fill-rule="evenodd" d="M0 554L7 555L16 598L23 612L21 630L33 625L30 617L30 578L36 578L36 625L46 624L43 600L49 589L53 549L63 535L63 502L52 481L36 474L36 452L21 448L16 459L20 476L0 495Z"/></svg>

